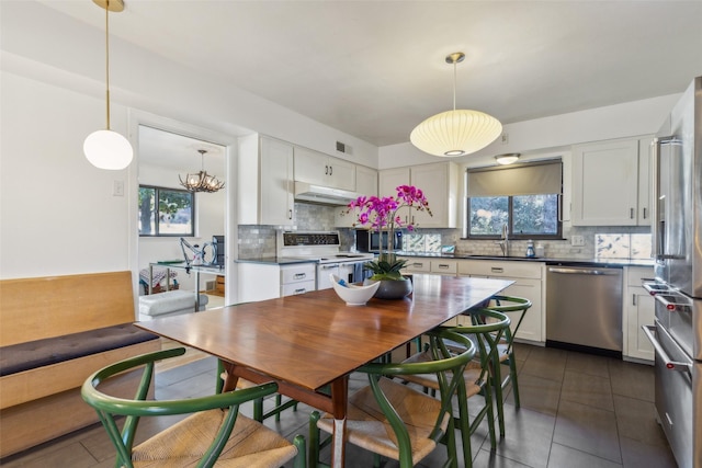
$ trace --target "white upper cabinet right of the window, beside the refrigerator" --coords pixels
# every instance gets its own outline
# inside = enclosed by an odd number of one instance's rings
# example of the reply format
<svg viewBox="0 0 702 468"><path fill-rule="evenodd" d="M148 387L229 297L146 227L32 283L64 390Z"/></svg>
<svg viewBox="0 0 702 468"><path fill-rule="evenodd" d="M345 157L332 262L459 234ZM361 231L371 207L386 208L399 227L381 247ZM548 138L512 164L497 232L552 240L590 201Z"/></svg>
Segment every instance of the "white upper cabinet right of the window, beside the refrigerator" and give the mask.
<svg viewBox="0 0 702 468"><path fill-rule="evenodd" d="M645 146L644 140L621 139L573 147L574 226L650 224L648 152L641 153L639 145Z"/></svg>

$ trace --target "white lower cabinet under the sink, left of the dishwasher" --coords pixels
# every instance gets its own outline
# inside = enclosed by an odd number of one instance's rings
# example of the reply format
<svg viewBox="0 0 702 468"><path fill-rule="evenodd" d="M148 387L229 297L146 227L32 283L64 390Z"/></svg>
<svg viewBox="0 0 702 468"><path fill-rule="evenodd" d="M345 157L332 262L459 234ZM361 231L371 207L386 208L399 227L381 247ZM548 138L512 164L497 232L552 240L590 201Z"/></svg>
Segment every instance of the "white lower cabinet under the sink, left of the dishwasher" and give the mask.
<svg viewBox="0 0 702 468"><path fill-rule="evenodd" d="M458 261L458 275L487 277L496 279L511 279L514 283L502 292L505 296L525 297L532 306L524 315L514 338L534 343L545 342L545 310L543 284L545 263L525 261L489 261L465 260ZM518 312L507 313L510 317L510 328L514 330L519 321ZM461 320L458 319L458 322Z"/></svg>

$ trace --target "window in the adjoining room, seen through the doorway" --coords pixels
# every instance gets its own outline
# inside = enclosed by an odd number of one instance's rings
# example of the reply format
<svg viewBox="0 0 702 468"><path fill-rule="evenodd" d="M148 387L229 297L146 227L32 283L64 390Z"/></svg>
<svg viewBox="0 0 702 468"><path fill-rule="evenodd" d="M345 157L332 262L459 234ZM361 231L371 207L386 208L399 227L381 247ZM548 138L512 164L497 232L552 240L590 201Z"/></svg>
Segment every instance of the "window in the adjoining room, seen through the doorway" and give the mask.
<svg viewBox="0 0 702 468"><path fill-rule="evenodd" d="M139 236L195 235L195 204L191 192L139 185Z"/></svg>

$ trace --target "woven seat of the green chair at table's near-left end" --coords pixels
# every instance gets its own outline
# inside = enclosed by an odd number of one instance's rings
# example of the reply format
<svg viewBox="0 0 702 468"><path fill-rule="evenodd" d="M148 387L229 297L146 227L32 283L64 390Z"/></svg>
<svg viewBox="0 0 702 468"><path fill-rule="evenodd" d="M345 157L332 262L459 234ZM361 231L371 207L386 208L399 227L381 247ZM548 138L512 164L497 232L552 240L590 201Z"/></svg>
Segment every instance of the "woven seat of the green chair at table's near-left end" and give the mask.
<svg viewBox="0 0 702 468"><path fill-rule="evenodd" d="M135 467L195 467L207 450L228 410L195 413L134 447ZM261 423L237 416L216 467L276 468L293 459L297 448Z"/></svg>

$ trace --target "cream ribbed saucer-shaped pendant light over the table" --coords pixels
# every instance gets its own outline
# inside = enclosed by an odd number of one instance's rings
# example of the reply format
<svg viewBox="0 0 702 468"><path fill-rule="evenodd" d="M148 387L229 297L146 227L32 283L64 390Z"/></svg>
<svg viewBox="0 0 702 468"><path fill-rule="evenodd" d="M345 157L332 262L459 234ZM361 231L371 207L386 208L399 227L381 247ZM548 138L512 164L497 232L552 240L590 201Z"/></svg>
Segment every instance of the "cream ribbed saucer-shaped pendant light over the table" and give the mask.
<svg viewBox="0 0 702 468"><path fill-rule="evenodd" d="M502 132L500 122L478 111L456 111L456 64L463 61L462 52L446 56L453 64L453 111L442 112L417 125L409 140L417 148L433 156L465 156L478 151Z"/></svg>

